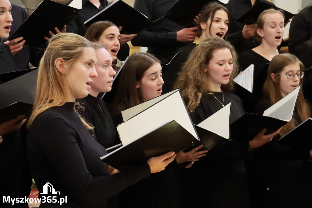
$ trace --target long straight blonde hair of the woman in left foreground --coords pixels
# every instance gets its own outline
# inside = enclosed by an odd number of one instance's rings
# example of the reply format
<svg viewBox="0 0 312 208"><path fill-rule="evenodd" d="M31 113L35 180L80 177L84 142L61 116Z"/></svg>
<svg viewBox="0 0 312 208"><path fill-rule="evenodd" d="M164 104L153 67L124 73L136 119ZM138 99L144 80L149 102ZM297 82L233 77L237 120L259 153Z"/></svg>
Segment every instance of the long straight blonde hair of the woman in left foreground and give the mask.
<svg viewBox="0 0 312 208"><path fill-rule="evenodd" d="M41 112L50 107L65 104L64 89L68 80L65 80L63 74L57 70L56 59L62 58L66 62L67 69L69 69L83 55L86 47L94 48L90 41L74 33L61 33L51 38L40 61L37 93L32 115L27 124L28 128ZM80 119L87 128L93 128L81 116Z"/></svg>

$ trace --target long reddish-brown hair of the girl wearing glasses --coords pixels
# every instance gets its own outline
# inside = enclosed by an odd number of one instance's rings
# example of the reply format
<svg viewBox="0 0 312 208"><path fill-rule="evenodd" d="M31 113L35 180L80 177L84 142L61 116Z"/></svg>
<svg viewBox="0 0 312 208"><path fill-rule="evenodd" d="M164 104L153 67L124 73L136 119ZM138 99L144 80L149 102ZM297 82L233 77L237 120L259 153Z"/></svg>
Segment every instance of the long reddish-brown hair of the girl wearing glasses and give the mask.
<svg viewBox="0 0 312 208"><path fill-rule="evenodd" d="M305 66L300 62L300 60L290 53L278 54L273 57L266 77L266 81L263 86L263 92L266 96L268 96L271 104L275 104L280 99L283 98L282 93L280 92L280 73L283 71L283 68L293 64L299 63L300 71L304 72ZM275 82L271 78L271 73L275 74ZM300 85L302 86L302 79L300 79ZM310 108L308 104L305 102L305 98L303 96L302 89L300 89L299 96L296 103L296 112L299 114L301 122L305 121L310 117ZM284 136L286 133L295 128L299 123L292 119L288 122L280 131L280 136Z"/></svg>

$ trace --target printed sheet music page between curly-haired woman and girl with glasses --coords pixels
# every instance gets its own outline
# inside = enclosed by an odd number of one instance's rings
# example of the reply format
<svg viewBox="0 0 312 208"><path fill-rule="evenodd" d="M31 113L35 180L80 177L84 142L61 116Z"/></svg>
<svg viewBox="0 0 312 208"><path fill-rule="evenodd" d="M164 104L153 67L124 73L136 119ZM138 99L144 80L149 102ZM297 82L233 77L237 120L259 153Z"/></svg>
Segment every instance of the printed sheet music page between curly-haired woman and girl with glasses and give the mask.
<svg viewBox="0 0 312 208"><path fill-rule="evenodd" d="M243 72L237 75L233 80L241 87L244 87L249 92L253 92L253 76L254 76L254 65L251 64Z"/></svg>

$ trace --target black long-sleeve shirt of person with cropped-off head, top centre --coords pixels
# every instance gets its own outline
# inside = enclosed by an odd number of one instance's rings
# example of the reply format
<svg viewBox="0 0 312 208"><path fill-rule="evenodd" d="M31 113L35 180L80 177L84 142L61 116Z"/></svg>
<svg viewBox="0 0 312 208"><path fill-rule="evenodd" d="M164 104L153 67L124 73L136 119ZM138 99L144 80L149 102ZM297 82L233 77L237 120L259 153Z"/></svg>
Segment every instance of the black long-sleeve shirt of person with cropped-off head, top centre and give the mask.
<svg viewBox="0 0 312 208"><path fill-rule="evenodd" d="M178 0L135 0L134 8L150 20L162 17ZM168 63L174 52L184 45L177 42L177 31L183 27L166 18L154 22L131 40L134 46L148 47L148 53L154 54L162 63Z"/></svg>

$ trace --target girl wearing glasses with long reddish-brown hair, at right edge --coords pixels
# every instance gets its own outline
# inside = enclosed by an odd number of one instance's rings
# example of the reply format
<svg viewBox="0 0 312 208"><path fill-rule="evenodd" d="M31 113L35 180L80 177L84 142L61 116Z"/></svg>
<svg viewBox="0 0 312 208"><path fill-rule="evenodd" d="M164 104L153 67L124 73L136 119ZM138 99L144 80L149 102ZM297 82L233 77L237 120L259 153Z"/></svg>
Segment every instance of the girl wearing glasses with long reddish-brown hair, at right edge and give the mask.
<svg viewBox="0 0 312 208"><path fill-rule="evenodd" d="M304 65L292 54L273 57L263 87L265 99L256 106L263 113L302 84ZM293 119L273 140L255 149L256 207L311 207L312 157L310 151L295 151L279 145L277 140L311 116L310 105L299 93ZM300 135L298 135L300 136Z"/></svg>

